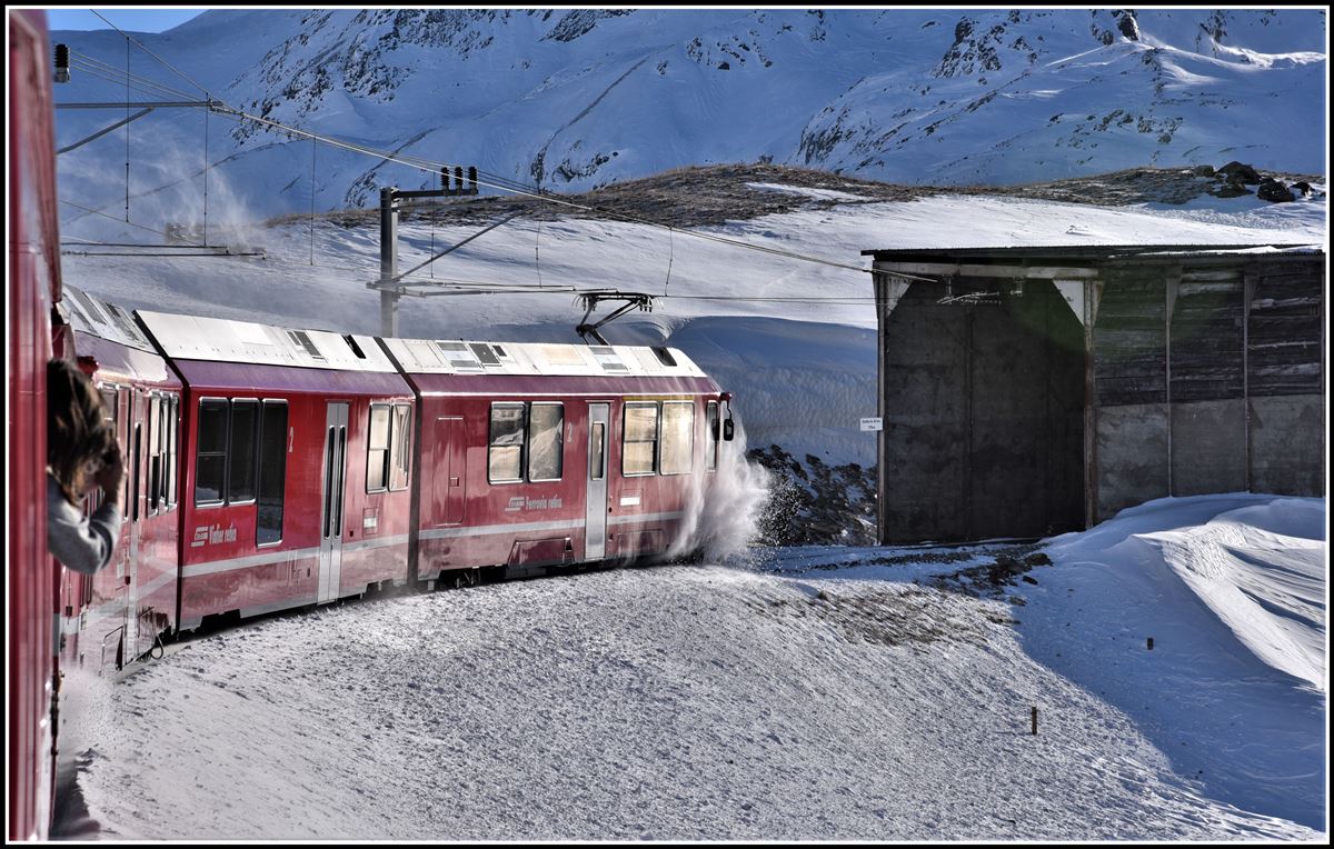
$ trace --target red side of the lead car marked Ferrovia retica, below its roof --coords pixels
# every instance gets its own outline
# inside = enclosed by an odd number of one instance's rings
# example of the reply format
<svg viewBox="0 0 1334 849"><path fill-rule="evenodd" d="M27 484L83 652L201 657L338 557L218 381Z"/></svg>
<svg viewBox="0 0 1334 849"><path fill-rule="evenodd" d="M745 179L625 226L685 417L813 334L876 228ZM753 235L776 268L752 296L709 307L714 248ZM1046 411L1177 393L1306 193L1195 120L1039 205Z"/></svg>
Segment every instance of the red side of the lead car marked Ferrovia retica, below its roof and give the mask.
<svg viewBox="0 0 1334 849"><path fill-rule="evenodd" d="M706 472L706 409L718 399L707 379L474 377L412 375L422 389L422 496L418 576L504 565L511 570L658 554L676 540ZM652 440L639 445L647 469L623 466L627 404L652 412ZM672 442L663 474L663 404L686 434ZM542 408L539 416L534 411ZM534 428L562 411L558 480L531 469ZM596 411L600 408L600 413ZM598 415L596 432L592 416ZM494 442L494 423L526 419L518 470ZM507 426L507 425L502 425ZM596 437L594 436L596 433ZM514 450L496 445L502 452ZM682 454L680 452L684 452ZM504 468L502 468L504 466ZM599 477L600 476L600 477ZM590 493L598 504L590 504ZM598 512L604 512L600 518ZM590 528L598 540L590 540ZM598 541L602 545L598 545Z"/></svg>

